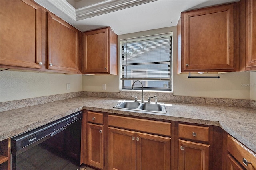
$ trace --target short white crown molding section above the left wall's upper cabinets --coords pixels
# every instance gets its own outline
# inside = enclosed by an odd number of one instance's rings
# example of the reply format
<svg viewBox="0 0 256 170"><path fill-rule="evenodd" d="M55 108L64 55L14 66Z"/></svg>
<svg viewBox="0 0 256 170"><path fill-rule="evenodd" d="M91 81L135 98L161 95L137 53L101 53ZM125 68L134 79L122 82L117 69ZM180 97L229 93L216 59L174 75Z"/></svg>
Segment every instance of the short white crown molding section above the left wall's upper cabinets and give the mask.
<svg viewBox="0 0 256 170"><path fill-rule="evenodd" d="M48 0L48 2L76 21L76 9L66 0Z"/></svg>

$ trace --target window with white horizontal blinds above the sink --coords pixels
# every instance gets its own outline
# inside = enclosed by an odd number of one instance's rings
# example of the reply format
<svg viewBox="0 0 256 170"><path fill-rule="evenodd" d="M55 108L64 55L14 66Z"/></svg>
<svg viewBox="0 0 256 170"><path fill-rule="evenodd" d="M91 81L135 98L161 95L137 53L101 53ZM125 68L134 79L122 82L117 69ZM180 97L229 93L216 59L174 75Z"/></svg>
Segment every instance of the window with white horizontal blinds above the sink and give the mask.
<svg viewBox="0 0 256 170"><path fill-rule="evenodd" d="M120 40L120 56L122 89L140 80L147 90L171 90L171 33Z"/></svg>

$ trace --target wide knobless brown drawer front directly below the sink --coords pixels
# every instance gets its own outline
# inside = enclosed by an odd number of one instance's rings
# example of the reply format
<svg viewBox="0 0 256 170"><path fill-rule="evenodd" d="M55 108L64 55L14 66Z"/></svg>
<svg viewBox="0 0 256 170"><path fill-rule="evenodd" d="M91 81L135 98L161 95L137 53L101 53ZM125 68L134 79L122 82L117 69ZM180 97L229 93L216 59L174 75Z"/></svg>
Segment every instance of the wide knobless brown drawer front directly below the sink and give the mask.
<svg viewBox="0 0 256 170"><path fill-rule="evenodd" d="M171 124L172 123L169 122L108 115L109 126L132 129L134 131L143 131L159 135L171 136Z"/></svg>

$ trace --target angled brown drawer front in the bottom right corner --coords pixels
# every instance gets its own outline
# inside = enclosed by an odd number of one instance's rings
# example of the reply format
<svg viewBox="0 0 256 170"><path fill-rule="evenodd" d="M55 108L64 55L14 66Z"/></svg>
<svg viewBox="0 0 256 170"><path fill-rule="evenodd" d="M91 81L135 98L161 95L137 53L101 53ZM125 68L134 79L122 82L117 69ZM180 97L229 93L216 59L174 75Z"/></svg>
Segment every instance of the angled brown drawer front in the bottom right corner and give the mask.
<svg viewBox="0 0 256 170"><path fill-rule="evenodd" d="M244 166L247 170L255 170L256 154L246 148L242 143L228 135L227 141L228 152ZM246 166L246 161L251 162Z"/></svg>

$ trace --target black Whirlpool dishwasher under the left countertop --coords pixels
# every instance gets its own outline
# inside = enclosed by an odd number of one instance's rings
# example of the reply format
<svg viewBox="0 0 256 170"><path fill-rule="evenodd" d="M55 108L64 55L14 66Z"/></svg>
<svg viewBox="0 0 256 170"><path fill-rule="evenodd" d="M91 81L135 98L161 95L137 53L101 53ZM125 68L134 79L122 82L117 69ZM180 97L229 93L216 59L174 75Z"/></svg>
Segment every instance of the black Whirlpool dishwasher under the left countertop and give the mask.
<svg viewBox="0 0 256 170"><path fill-rule="evenodd" d="M11 138L12 170L80 170L82 111Z"/></svg>

